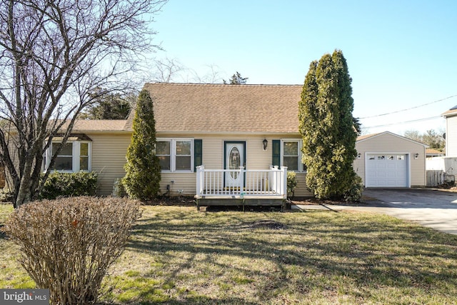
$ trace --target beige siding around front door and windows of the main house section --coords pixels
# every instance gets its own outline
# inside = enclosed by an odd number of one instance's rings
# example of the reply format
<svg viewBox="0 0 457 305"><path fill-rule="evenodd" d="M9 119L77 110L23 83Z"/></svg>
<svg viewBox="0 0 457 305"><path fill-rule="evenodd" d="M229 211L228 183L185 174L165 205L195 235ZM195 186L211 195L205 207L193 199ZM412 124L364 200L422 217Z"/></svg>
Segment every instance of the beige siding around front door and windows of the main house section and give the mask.
<svg viewBox="0 0 457 305"><path fill-rule="evenodd" d="M157 138L179 139L179 138L202 139L203 164L206 169L224 169L224 141L246 141L246 169L269 169L271 166L271 143L273 139L300 139L298 135L207 135L194 134L183 136L179 134L158 134ZM263 151L263 139L268 140L266 151ZM297 173L298 186L295 196L312 196L306 189L306 174ZM174 183L171 183L174 181ZM161 193L166 193L166 186L170 186L171 195L178 194L182 190L185 196L194 196L196 193L196 173L162 173Z"/></svg>

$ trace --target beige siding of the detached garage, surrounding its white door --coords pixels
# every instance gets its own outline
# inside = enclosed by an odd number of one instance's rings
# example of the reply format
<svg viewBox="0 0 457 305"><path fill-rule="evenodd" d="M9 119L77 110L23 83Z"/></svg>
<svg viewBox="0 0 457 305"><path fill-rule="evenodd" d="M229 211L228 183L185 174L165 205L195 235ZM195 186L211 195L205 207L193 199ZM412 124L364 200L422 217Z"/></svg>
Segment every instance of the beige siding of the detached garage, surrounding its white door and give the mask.
<svg viewBox="0 0 457 305"><path fill-rule="evenodd" d="M426 185L426 149L422 144L386 133L356 142L356 149L360 158L356 158L353 162L353 168L361 176L363 184L365 184L366 153L398 153L409 154L411 186ZM414 159L416 153L419 154L418 159Z"/></svg>

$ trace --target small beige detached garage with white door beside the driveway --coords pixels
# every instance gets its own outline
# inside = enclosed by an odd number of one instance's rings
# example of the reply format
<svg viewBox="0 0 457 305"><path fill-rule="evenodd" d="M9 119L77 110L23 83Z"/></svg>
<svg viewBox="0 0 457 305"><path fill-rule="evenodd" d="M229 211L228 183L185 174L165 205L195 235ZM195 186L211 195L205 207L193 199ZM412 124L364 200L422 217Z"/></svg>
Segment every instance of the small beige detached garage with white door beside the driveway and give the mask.
<svg viewBox="0 0 457 305"><path fill-rule="evenodd" d="M389 131L359 136L354 170L365 187L426 185L426 145Z"/></svg>

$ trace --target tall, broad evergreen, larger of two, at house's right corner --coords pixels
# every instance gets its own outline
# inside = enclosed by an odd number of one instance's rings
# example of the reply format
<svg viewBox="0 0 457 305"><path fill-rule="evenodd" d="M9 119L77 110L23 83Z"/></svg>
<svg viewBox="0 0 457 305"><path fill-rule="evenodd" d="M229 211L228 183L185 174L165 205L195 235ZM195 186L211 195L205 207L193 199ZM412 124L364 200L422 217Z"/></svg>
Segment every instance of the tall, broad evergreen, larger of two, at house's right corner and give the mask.
<svg viewBox="0 0 457 305"><path fill-rule="evenodd" d="M306 184L320 199L360 198L360 178L352 166L357 134L351 81L343 53L334 51L311 62L303 85L298 117Z"/></svg>

